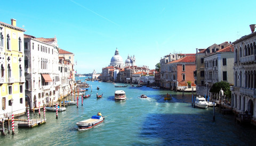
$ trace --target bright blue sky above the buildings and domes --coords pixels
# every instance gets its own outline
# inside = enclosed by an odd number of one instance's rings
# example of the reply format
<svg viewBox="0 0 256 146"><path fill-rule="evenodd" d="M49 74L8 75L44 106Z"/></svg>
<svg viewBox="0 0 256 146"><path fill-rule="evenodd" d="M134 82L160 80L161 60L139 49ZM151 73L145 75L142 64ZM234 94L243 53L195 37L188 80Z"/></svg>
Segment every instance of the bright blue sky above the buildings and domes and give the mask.
<svg viewBox="0 0 256 146"><path fill-rule="evenodd" d="M169 54L235 41L256 23L255 1L3 1L0 21L58 39L77 73L101 72L118 48L123 61L155 68Z"/></svg>

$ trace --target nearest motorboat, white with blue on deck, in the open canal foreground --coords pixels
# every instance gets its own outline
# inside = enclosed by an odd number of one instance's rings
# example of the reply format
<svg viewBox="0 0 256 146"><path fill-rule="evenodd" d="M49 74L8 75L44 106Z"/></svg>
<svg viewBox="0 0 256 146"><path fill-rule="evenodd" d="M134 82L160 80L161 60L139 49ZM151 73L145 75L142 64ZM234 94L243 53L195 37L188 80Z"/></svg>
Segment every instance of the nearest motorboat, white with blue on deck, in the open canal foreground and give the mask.
<svg viewBox="0 0 256 146"><path fill-rule="evenodd" d="M78 126L78 130L86 130L86 129L92 128L95 125L100 124L101 122L104 121L104 119L105 119L105 117L99 116L99 114L98 114L98 115L94 115L91 118L86 119L84 121L77 122L76 125Z"/></svg>

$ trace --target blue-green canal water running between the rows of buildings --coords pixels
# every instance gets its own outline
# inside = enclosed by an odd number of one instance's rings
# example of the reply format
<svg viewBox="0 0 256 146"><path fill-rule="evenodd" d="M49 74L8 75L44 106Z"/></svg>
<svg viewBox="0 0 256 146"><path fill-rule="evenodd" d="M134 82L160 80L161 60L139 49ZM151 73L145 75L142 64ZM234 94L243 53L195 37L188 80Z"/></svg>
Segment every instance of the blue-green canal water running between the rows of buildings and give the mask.
<svg viewBox="0 0 256 146"><path fill-rule="evenodd" d="M84 79L82 79L84 80ZM18 129L15 135L1 136L0 145L255 145L256 130L236 124L233 115L219 114L216 108L191 107L191 93L149 87L115 88L114 84L87 81L92 85L90 98L79 97L76 105L58 113L46 111L46 124ZM124 85L117 83L116 85ZM96 90L97 86L100 90ZM126 92L126 101L114 100L115 90ZM102 94L100 99L96 93ZM164 100L166 93L172 100ZM148 96L139 98L141 94ZM73 97L74 98L74 97ZM105 121L89 130L78 131L76 122L100 111ZM41 113L42 110L41 110ZM30 118L38 118L30 113ZM24 117L25 118L25 117ZM15 123L17 125L17 123Z"/></svg>

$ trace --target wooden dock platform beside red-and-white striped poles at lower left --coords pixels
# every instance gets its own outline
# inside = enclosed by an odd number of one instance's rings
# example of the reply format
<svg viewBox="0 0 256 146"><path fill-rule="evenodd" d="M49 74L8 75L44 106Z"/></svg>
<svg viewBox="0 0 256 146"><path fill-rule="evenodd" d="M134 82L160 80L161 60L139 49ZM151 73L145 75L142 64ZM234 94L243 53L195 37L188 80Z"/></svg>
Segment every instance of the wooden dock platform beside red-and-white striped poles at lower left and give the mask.
<svg viewBox="0 0 256 146"><path fill-rule="evenodd" d="M46 123L46 119L41 118L41 119L30 119L29 123L28 121L21 121L18 123L19 128L33 128L38 125Z"/></svg>

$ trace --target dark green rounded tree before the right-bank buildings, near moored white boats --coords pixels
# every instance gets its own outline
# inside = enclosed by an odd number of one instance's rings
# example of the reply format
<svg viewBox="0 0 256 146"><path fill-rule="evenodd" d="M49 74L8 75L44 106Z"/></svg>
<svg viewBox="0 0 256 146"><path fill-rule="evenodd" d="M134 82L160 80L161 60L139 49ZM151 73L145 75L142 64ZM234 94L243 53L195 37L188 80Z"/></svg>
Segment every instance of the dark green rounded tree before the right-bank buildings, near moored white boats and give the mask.
<svg viewBox="0 0 256 146"><path fill-rule="evenodd" d="M226 95L226 97L228 97L228 98L231 98L231 91L230 91L229 83L225 82L225 81L220 81L220 82L214 83L210 89L210 92L219 93L221 88L224 92L224 95Z"/></svg>

